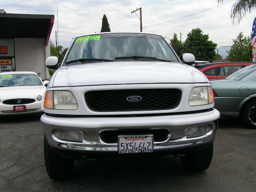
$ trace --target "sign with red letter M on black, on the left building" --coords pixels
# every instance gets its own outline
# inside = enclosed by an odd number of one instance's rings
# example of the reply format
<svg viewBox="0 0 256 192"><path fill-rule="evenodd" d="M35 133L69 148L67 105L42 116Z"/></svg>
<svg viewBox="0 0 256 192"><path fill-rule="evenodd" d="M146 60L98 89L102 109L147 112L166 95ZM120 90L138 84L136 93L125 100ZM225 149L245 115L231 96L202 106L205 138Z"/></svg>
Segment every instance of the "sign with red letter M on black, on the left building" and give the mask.
<svg viewBox="0 0 256 192"><path fill-rule="evenodd" d="M0 39L0 57L14 57L13 39Z"/></svg>

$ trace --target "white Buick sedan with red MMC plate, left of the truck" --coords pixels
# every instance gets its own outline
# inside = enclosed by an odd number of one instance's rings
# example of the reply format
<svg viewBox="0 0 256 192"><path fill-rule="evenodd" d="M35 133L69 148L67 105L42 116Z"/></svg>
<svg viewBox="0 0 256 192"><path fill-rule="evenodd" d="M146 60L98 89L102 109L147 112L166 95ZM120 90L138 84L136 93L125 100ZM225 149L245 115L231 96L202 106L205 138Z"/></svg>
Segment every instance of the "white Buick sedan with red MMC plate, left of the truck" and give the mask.
<svg viewBox="0 0 256 192"><path fill-rule="evenodd" d="M35 72L0 73L0 116L42 112L46 84Z"/></svg>

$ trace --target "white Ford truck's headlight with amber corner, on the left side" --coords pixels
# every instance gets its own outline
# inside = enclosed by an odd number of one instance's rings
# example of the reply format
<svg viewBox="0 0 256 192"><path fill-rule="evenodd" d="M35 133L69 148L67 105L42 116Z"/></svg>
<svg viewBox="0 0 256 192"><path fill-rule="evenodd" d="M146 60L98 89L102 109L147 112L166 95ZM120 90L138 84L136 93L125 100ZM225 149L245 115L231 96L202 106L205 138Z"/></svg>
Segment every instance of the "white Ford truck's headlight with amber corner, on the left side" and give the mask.
<svg viewBox="0 0 256 192"><path fill-rule="evenodd" d="M47 91L44 97L44 108L56 110L76 110L76 99L72 92L66 90Z"/></svg>

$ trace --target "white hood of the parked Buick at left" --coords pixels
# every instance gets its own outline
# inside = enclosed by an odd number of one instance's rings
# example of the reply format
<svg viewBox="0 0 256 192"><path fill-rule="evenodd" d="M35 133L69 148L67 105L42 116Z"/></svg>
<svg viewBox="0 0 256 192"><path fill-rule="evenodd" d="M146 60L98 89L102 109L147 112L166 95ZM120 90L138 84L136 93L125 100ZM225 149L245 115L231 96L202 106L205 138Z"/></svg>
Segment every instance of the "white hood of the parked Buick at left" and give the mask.
<svg viewBox="0 0 256 192"><path fill-rule="evenodd" d="M45 86L0 87L0 100L9 98L36 98L44 96Z"/></svg>

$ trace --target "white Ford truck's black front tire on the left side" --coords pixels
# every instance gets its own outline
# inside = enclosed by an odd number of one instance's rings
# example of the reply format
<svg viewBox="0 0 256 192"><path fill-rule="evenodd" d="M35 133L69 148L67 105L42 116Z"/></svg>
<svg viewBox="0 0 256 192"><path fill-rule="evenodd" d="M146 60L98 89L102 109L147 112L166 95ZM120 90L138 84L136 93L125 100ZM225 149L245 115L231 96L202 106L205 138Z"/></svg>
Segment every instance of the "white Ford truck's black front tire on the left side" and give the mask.
<svg viewBox="0 0 256 192"><path fill-rule="evenodd" d="M68 178L74 170L74 160L63 158L54 152L46 136L44 136L44 162L49 177L54 180Z"/></svg>

